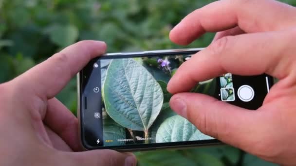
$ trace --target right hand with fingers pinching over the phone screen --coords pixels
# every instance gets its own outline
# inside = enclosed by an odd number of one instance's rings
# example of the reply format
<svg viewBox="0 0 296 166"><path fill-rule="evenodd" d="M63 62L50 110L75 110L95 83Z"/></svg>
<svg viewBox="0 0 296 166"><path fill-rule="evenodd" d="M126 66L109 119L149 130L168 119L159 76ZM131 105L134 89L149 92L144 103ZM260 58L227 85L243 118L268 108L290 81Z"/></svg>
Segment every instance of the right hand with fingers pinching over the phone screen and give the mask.
<svg viewBox="0 0 296 166"><path fill-rule="evenodd" d="M186 45L205 32L215 41L186 61L168 83L170 105L201 132L282 165L296 164L296 8L274 0L219 0L170 33ZM181 93L224 73L279 79L257 111L203 94Z"/></svg>

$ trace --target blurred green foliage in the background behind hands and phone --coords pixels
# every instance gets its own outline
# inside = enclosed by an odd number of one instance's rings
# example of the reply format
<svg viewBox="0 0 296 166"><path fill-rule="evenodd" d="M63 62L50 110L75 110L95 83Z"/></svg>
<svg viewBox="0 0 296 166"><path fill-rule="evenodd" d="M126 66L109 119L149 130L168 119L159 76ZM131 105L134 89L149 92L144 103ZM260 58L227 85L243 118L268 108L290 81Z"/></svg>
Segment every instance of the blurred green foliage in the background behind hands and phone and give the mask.
<svg viewBox="0 0 296 166"><path fill-rule="evenodd" d="M0 0L0 83L84 39L108 52L184 48L168 33L186 14L213 0ZM283 0L296 6L296 0ZM187 48L206 47L208 33ZM57 96L76 114L73 79ZM273 166L229 146L136 152L140 166Z"/></svg>

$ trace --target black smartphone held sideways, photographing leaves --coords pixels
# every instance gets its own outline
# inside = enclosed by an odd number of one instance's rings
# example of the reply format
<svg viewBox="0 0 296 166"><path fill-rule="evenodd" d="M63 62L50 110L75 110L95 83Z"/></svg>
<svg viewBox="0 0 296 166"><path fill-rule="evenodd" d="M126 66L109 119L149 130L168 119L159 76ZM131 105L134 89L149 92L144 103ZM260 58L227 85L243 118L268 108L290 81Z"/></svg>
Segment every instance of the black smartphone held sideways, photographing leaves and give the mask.
<svg viewBox="0 0 296 166"><path fill-rule="evenodd" d="M110 53L78 74L79 132L85 149L119 151L220 144L169 107L169 79L202 49ZM203 93L243 108L259 108L273 78L225 73L197 83Z"/></svg>

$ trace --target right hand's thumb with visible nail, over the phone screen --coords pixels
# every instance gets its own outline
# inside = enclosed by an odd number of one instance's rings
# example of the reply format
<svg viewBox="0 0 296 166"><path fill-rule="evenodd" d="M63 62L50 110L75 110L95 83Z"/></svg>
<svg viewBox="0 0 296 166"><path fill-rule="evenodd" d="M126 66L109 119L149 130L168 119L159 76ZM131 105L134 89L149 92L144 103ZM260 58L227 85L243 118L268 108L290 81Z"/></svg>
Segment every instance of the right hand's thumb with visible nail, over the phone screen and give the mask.
<svg viewBox="0 0 296 166"><path fill-rule="evenodd" d="M175 94L170 106L202 133L224 143L245 149L247 147L244 146L256 141L254 128L258 128L258 111L243 109L197 93Z"/></svg>

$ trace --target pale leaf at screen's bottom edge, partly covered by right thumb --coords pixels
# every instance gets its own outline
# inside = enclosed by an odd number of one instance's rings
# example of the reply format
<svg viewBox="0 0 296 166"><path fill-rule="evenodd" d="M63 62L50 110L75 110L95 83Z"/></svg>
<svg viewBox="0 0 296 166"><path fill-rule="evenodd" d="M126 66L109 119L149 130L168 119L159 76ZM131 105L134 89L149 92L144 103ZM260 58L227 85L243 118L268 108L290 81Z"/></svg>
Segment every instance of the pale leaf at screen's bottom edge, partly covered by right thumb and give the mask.
<svg viewBox="0 0 296 166"><path fill-rule="evenodd" d="M167 118L156 133L156 142L180 142L213 139L201 133L193 124L182 116Z"/></svg>

